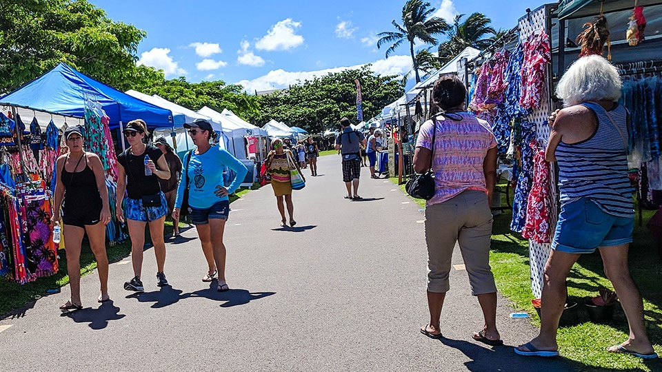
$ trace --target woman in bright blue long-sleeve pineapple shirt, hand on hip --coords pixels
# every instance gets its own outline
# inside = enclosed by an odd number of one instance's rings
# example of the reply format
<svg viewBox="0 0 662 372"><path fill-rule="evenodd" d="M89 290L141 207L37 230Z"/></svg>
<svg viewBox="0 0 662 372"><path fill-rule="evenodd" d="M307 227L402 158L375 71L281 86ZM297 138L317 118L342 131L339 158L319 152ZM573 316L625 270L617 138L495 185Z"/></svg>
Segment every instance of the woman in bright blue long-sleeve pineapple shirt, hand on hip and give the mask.
<svg viewBox="0 0 662 372"><path fill-rule="evenodd" d="M191 223L198 231L202 251L209 265L203 282L211 282L218 272L219 291L228 291L230 287L225 282L225 245L223 245L223 230L230 214L228 195L239 188L248 169L229 152L210 145L210 139L216 138L217 134L208 121L196 119L193 123L184 124L184 127L188 129L188 134L197 145L197 149L184 156L184 168L177 187L177 200L174 202L172 218L174 220L179 218L188 172L188 211ZM227 188L223 186L225 167L237 174Z"/></svg>

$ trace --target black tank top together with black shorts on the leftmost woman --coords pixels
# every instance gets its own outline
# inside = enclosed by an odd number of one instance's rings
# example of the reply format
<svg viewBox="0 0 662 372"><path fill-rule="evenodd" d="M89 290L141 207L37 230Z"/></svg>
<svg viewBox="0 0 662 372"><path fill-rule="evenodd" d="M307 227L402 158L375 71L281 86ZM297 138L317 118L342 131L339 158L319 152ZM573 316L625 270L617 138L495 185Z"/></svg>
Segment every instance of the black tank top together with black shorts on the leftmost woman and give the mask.
<svg viewBox="0 0 662 372"><path fill-rule="evenodd" d="M62 167L60 178L65 186L62 221L65 225L85 227L99 223L102 203L97 188L97 178L88 165L87 156L85 154L83 156L85 156L85 168L81 172L69 172L65 166ZM74 171L81 160L82 158L76 163Z"/></svg>

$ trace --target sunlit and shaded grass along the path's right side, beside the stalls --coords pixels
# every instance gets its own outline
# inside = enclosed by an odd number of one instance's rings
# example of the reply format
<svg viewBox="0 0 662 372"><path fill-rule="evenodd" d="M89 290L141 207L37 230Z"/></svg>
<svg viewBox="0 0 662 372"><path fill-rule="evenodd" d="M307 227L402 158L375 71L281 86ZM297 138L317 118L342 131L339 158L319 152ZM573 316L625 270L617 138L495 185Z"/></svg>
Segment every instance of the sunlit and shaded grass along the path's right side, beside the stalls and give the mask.
<svg viewBox="0 0 662 372"><path fill-rule="evenodd" d="M397 184L397 178L390 180ZM400 185L400 188L405 192L404 185ZM421 206L425 205L425 200L414 200ZM645 222L653 214L654 211L643 211L643 227L639 227L638 217L635 220L634 242L630 246L630 273L643 296L648 336L655 351L662 353L662 263L657 255L656 244L645 227ZM496 287L508 298L512 307L528 312L531 322L540 326L539 318L531 304L533 295L530 289L528 240L510 231L511 218L510 212L494 217L490 264ZM611 283L605 278L600 254L581 256L568 276L570 300L583 306L585 300L597 296L598 290L603 287L613 290ZM559 329L559 351L563 358L583 365L581 369L586 371L662 371L662 360L644 362L629 355L605 351L605 347L619 344L628 338L628 322L620 307L614 312L614 321L610 324L589 322L588 314L583 308L580 308L578 313L575 325ZM501 324L512 324L510 320L497 321Z"/></svg>

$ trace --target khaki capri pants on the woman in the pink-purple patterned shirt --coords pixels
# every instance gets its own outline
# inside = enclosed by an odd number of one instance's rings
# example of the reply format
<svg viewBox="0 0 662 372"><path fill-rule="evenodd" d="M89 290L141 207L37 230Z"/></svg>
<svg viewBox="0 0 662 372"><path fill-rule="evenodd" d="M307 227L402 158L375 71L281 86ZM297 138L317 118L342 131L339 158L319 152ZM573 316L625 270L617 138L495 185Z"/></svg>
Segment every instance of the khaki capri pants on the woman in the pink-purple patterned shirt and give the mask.
<svg viewBox="0 0 662 372"><path fill-rule="evenodd" d="M465 190L443 203L425 208L425 242L428 243L428 291L445 293L450 289L453 249L460 247L471 294L496 292L490 268L492 212L488 196L478 190Z"/></svg>

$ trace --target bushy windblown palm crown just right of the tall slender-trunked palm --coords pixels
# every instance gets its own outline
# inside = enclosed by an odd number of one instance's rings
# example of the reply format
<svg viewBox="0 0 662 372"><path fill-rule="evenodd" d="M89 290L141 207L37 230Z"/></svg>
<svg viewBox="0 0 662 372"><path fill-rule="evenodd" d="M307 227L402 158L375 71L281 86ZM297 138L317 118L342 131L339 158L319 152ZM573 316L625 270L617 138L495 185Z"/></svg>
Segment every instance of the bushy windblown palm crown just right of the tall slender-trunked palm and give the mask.
<svg viewBox="0 0 662 372"><path fill-rule="evenodd" d="M455 16L453 25L448 34L448 41L439 44L439 61L441 65L447 63L467 47L483 50L492 45L492 38L486 35L495 35L496 31L490 23L492 20L482 13L473 13L463 22L465 14Z"/></svg>

